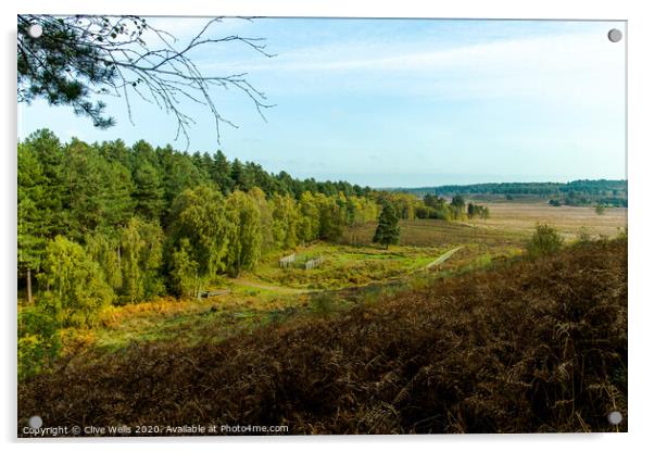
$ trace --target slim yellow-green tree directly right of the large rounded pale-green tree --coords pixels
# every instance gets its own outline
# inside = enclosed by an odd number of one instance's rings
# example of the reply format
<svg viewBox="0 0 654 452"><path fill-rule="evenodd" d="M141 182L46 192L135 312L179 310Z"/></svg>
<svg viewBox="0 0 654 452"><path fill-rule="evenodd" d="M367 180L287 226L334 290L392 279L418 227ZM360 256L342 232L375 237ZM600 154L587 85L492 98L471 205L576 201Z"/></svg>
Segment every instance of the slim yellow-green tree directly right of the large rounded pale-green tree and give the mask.
<svg viewBox="0 0 654 452"><path fill-rule="evenodd" d="M261 256L260 212L254 199L239 190L227 197L225 210L229 222L227 271L238 276L242 269L253 268Z"/></svg>

